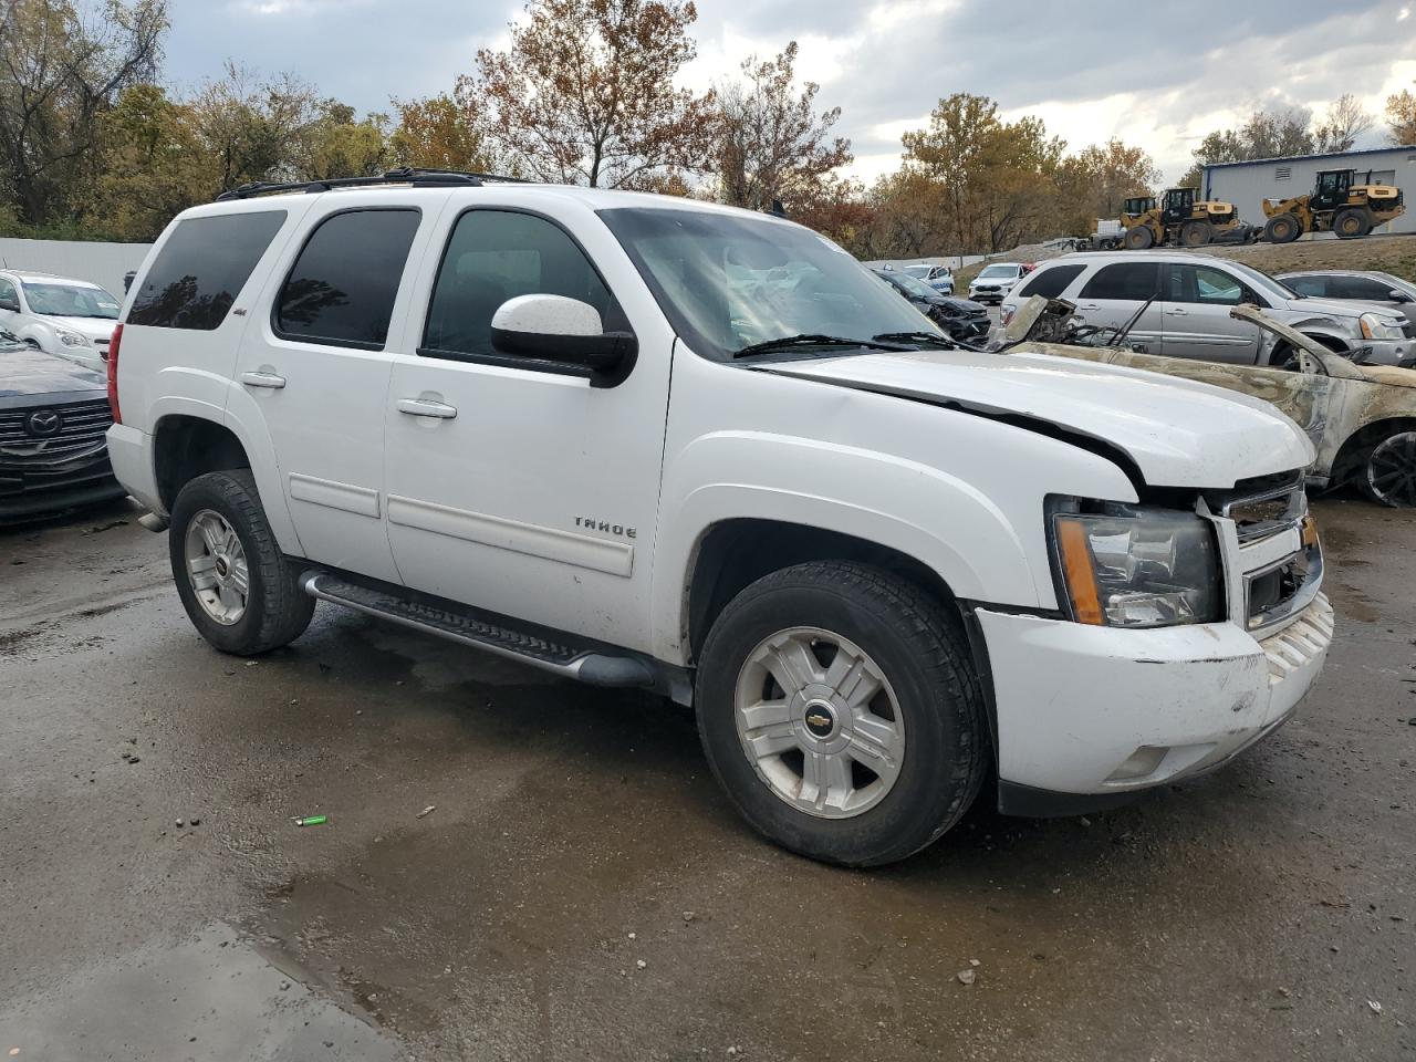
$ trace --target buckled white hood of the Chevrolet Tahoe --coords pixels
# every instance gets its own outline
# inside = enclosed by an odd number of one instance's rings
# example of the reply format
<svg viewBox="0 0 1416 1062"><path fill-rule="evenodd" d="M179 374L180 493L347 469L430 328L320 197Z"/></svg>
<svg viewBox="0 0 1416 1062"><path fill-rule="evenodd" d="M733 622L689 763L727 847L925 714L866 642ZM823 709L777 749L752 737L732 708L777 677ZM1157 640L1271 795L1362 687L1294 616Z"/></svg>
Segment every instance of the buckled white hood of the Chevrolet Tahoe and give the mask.
<svg viewBox="0 0 1416 1062"><path fill-rule="evenodd" d="M1297 425L1262 399L1123 365L919 351L789 361L767 371L1042 422L1121 450L1153 487L1232 487L1314 457Z"/></svg>

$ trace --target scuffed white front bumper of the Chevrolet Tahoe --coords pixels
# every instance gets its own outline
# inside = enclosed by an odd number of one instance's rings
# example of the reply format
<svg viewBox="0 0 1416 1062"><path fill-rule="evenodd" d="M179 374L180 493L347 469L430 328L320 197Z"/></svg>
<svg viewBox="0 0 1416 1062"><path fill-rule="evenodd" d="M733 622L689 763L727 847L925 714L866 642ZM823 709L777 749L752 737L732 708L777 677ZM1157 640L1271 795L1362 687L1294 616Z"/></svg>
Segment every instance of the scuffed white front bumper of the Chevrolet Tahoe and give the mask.
<svg viewBox="0 0 1416 1062"><path fill-rule="evenodd" d="M1323 595L1263 640L1232 622L1121 630L976 615L1001 787L1102 797L1095 806L1216 767L1277 729L1332 641Z"/></svg>

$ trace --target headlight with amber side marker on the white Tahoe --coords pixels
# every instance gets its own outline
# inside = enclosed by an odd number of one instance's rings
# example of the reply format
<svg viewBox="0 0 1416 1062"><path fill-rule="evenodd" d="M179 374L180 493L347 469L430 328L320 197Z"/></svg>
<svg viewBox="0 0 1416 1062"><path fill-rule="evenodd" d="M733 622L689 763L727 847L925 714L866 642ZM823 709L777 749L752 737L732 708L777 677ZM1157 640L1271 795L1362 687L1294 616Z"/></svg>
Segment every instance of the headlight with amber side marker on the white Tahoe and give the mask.
<svg viewBox="0 0 1416 1062"><path fill-rule="evenodd" d="M1209 523L1192 513L1107 504L1052 517L1059 585L1072 619L1109 627L1168 627L1223 616Z"/></svg>

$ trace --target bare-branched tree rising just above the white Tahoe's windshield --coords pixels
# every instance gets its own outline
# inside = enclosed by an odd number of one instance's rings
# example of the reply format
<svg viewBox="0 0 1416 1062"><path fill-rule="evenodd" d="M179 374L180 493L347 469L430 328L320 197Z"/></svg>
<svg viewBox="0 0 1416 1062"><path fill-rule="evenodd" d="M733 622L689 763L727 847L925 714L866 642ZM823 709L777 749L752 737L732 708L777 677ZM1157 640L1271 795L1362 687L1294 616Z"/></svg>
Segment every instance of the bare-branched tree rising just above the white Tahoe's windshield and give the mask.
<svg viewBox="0 0 1416 1062"><path fill-rule="evenodd" d="M823 198L833 170L847 166L851 142L833 137L841 109L816 113L820 86L796 89L796 41L775 58L742 62L742 81L716 88L718 195L724 202L767 210L780 198L789 210ZM833 198L824 194L824 198ZM838 197L837 197L838 198Z"/></svg>

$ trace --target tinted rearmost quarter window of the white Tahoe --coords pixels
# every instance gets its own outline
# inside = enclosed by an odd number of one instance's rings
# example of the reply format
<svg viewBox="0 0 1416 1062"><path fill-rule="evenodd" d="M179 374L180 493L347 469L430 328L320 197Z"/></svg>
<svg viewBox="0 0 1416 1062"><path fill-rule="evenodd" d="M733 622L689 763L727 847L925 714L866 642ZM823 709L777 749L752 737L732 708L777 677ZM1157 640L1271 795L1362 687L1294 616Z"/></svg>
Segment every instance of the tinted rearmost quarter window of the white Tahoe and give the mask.
<svg viewBox="0 0 1416 1062"><path fill-rule="evenodd" d="M133 296L127 323L219 327L282 224L283 210L178 222Z"/></svg>

